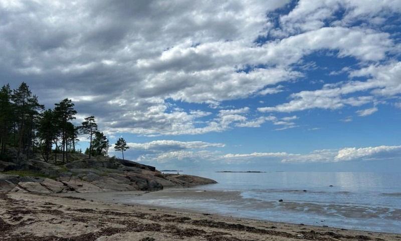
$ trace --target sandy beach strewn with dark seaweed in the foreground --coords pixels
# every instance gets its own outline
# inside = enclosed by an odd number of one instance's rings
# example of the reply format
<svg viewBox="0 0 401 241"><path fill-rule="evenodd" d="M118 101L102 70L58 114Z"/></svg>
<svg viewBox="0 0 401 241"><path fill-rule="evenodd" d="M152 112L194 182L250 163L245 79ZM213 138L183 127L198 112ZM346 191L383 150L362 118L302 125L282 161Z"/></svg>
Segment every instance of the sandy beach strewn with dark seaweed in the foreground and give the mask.
<svg viewBox="0 0 401 241"><path fill-rule="evenodd" d="M0 240L401 240L401 234L308 226L302 220L291 224L127 205L103 194L2 192Z"/></svg>

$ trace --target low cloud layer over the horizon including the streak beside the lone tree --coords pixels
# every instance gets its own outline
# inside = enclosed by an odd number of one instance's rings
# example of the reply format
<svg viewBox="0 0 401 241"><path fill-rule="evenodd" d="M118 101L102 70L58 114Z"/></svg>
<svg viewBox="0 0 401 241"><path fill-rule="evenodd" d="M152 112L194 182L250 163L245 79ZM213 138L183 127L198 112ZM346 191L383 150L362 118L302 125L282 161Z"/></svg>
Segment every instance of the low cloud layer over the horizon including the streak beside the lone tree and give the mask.
<svg viewBox="0 0 401 241"><path fill-rule="evenodd" d="M376 146L315 150L306 154L287 152L254 152L224 154L221 143L179 142L171 140L148 143L128 143L127 156L139 156L136 161L157 163L165 167L257 168L265 170L278 164L339 163L383 160L399 162L401 146ZM217 148L212 150L211 148ZM139 154L138 154L139 153ZM119 154L111 152L111 154Z"/></svg>

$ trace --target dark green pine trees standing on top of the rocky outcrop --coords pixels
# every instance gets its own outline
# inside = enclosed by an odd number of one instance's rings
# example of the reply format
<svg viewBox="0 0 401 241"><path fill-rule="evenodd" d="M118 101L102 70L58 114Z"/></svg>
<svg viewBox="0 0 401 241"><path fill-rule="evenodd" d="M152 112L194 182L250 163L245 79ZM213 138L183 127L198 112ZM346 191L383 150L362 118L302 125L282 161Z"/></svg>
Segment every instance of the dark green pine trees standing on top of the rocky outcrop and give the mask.
<svg viewBox="0 0 401 241"><path fill-rule="evenodd" d="M21 154L28 160L35 151L39 151L46 162L54 153L56 164L60 153L65 163L69 161L69 153L82 152L75 149L79 135L87 135L90 140L85 151L89 158L107 156L109 140L98 130L95 117L89 116L81 125L75 126L71 121L76 119L76 114L74 103L68 98L55 103L53 109L45 109L26 83L15 90L10 88L10 84L4 85L0 89L0 159L4 159L6 147L10 146L17 149L18 163L22 160ZM123 138L115 146L122 152L128 148Z"/></svg>

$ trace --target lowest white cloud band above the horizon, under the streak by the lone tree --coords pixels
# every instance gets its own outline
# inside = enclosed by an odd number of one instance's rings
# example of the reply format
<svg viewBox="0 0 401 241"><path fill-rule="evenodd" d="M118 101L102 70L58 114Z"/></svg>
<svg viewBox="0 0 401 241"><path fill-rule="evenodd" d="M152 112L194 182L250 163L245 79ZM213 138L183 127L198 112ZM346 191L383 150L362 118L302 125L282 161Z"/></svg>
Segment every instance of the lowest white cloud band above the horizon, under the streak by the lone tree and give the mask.
<svg viewBox="0 0 401 241"><path fill-rule="evenodd" d="M230 167L230 165L250 164L252 165L280 165L281 164L307 164L307 163L337 163L357 161L382 161L399 158L401 146L377 146L366 148L342 148L315 150L310 153L287 153L287 152L253 152L245 154L223 154L217 151L171 151L142 157L142 161L157 163L169 163L180 165L181 161L188 163L213 163L217 166Z"/></svg>

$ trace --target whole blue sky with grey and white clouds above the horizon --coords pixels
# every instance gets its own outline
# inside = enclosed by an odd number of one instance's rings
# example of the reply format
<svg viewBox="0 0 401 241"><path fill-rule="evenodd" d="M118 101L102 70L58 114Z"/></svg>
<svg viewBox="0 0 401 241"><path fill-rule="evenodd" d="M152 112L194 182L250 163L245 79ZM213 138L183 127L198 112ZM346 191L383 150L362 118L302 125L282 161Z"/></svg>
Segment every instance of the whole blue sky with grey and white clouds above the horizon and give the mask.
<svg viewBox="0 0 401 241"><path fill-rule="evenodd" d="M399 0L0 0L0 85L159 170L400 172L400 26Z"/></svg>

